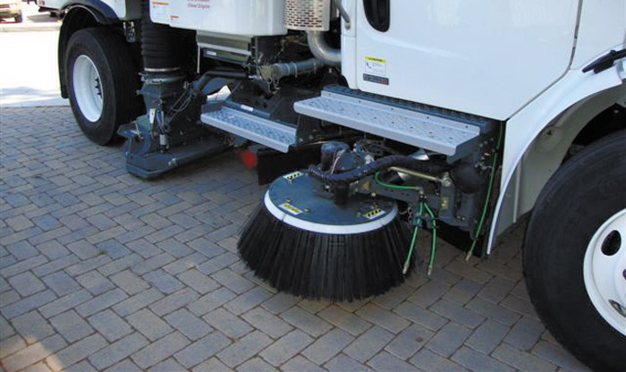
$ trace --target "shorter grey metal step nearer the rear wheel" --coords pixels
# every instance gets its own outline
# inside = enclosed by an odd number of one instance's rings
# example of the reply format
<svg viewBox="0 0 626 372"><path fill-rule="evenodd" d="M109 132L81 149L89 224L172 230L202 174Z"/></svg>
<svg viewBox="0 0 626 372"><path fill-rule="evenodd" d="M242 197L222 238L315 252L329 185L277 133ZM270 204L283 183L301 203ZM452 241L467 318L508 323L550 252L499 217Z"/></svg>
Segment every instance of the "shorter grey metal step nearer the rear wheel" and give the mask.
<svg viewBox="0 0 626 372"><path fill-rule="evenodd" d="M253 140L268 148L287 152L296 143L296 129L253 114L222 106L200 116L202 123Z"/></svg>

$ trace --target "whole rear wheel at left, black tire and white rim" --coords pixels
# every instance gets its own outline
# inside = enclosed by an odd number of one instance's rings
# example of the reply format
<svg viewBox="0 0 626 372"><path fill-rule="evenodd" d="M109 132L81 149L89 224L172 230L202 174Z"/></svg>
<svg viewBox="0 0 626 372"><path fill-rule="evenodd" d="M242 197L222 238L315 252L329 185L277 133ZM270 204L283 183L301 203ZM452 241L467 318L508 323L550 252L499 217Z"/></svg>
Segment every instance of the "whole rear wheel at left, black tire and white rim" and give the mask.
<svg viewBox="0 0 626 372"><path fill-rule="evenodd" d="M114 139L121 123L134 119L137 69L122 36L105 28L79 30L65 54L65 79L80 129L99 145Z"/></svg>

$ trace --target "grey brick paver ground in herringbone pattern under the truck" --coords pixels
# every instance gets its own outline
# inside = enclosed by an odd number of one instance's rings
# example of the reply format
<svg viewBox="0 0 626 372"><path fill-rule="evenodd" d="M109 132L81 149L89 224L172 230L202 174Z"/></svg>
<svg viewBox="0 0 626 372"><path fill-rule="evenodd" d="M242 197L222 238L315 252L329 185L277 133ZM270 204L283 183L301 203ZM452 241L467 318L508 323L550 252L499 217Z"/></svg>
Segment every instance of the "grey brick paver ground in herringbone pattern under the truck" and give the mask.
<svg viewBox="0 0 626 372"><path fill-rule="evenodd" d="M440 241L432 279L377 298L301 300L237 256L264 189L232 153L147 182L67 107L0 113L6 371L586 369L532 309L523 227L469 263Z"/></svg>

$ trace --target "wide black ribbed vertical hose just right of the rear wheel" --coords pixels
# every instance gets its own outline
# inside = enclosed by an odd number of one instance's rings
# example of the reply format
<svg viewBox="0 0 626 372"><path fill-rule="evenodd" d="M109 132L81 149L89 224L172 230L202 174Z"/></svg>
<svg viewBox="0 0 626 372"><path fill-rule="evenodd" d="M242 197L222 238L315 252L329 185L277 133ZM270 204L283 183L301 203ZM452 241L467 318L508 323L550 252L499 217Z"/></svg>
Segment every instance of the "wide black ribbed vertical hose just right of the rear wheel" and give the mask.
<svg viewBox="0 0 626 372"><path fill-rule="evenodd" d="M146 72L175 72L181 69L182 40L169 26L150 20L150 4L143 2L141 18L141 56Z"/></svg>

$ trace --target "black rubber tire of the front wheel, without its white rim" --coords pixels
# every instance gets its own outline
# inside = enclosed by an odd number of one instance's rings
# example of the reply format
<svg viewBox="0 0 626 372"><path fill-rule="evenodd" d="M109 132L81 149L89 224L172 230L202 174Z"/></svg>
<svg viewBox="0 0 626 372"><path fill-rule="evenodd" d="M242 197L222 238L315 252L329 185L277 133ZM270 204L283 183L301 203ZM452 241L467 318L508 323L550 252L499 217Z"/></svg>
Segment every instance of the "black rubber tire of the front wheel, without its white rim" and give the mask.
<svg viewBox="0 0 626 372"><path fill-rule="evenodd" d="M626 131L620 131L554 173L537 199L524 241L524 275L537 314L556 340L598 371L626 368L626 335L589 300L583 259L598 228L624 209Z"/></svg>

